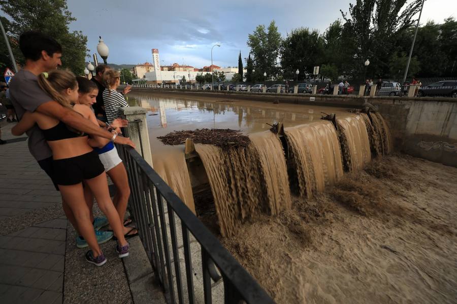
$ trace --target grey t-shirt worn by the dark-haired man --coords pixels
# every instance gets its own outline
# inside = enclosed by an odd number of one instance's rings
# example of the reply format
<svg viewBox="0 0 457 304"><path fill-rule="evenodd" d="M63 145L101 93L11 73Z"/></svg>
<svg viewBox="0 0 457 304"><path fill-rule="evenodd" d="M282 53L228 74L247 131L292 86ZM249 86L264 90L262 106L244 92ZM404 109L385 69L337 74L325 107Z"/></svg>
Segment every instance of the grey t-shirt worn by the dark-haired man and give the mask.
<svg viewBox="0 0 457 304"><path fill-rule="evenodd" d="M34 112L43 103L53 100L51 96L40 88L37 76L24 69L14 75L10 82L9 93L19 119L22 118L25 111ZM37 161L52 156L52 151L44 138L43 132L37 125L26 133L28 135L28 149Z"/></svg>

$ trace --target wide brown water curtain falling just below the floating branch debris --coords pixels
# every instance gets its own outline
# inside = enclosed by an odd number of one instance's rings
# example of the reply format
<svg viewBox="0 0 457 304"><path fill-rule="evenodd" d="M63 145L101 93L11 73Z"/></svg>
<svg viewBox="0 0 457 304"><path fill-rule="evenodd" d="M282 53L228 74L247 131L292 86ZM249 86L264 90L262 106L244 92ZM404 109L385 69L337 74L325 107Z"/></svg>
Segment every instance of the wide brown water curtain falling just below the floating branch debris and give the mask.
<svg viewBox="0 0 457 304"><path fill-rule="evenodd" d="M195 145L216 205L222 236L257 212L276 215L291 207L289 180L281 142L276 134L251 134L246 148Z"/></svg>

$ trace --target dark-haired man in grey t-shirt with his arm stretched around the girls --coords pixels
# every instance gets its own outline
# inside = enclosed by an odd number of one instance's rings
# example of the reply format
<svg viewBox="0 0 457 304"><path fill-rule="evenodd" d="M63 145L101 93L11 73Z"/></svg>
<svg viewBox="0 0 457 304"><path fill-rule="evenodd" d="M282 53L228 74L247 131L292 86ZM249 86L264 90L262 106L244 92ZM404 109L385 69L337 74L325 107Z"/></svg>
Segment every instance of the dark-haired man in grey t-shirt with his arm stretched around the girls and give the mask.
<svg viewBox="0 0 457 304"><path fill-rule="evenodd" d="M38 111L44 115L54 117L66 125L86 134L107 139L113 138L112 133L97 127L92 122L79 115L76 111L63 107L40 88L37 76L42 72L55 69L62 64L60 61L62 49L57 41L41 32L28 31L22 33L20 36L19 47L26 60L25 66L16 73L15 77L10 82L10 97L19 119L22 118L25 111ZM46 171L51 179L53 179L52 151L49 148L42 131L37 126L34 126L27 131L27 135L28 148L31 155L34 156L40 167ZM126 137L115 137L115 142L135 146L133 142ZM78 230L75 216L70 207L63 200L62 207L67 218L75 229ZM91 209L90 206L89 210ZM93 220L93 217L91 219Z"/></svg>

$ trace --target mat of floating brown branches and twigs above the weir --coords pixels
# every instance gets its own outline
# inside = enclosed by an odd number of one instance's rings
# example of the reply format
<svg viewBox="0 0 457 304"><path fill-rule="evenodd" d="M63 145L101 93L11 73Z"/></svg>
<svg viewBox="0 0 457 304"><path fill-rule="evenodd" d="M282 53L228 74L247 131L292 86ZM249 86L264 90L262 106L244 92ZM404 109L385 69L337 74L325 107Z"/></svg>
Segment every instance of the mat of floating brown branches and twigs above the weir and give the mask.
<svg viewBox="0 0 457 304"><path fill-rule="evenodd" d="M197 129L168 133L157 137L161 142L170 145L184 144L187 138L194 143L212 144L219 147L246 147L250 139L240 130L232 129Z"/></svg>

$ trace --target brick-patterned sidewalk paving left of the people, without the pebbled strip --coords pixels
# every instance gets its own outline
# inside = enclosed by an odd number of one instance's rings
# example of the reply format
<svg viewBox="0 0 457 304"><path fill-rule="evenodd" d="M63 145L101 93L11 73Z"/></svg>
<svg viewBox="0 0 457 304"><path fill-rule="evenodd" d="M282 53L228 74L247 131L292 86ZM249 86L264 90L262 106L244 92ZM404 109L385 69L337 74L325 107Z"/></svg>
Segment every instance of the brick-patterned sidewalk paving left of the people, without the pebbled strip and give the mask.
<svg viewBox="0 0 457 304"><path fill-rule="evenodd" d="M2 123L2 138L12 139ZM0 298L62 303L67 219L23 138L0 145Z"/></svg>

